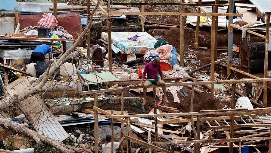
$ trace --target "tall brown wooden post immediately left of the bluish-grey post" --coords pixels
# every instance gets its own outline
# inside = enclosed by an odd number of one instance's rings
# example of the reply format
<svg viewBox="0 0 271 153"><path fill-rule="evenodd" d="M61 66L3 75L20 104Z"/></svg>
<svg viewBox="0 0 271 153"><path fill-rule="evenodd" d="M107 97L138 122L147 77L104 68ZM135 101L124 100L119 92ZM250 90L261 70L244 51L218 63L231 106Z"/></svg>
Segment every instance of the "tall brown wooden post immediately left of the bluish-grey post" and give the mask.
<svg viewBox="0 0 271 153"><path fill-rule="evenodd" d="M215 0L218 3L218 0ZM216 9L213 7L212 12L215 13ZM217 35L217 21L216 17L212 16L212 30L211 30L211 81L214 81L214 61L216 52L216 35ZM211 96L214 96L214 84L211 84Z"/></svg>

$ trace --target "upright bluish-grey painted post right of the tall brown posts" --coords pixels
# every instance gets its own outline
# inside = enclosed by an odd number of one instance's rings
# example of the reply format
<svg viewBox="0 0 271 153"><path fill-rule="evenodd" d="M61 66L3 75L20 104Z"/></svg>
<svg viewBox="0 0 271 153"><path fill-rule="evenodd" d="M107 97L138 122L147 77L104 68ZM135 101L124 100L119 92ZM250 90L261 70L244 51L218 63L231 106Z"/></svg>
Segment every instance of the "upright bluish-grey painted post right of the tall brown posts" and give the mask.
<svg viewBox="0 0 271 153"><path fill-rule="evenodd" d="M233 0L229 0L229 13L233 13ZM233 24L233 17L229 17L229 30L228 30L228 75L231 73L229 67L232 66L232 44L233 44L233 28L230 26Z"/></svg>

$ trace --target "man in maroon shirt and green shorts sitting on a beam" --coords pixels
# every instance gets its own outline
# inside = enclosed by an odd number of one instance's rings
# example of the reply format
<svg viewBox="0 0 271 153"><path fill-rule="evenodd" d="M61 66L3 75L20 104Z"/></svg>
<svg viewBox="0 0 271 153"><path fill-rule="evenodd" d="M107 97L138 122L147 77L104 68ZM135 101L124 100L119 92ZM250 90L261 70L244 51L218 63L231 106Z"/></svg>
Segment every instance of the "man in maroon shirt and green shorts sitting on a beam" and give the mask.
<svg viewBox="0 0 271 153"><path fill-rule="evenodd" d="M158 77L158 72L160 74L161 79ZM162 89L163 89L163 92L164 92L163 100L168 102L166 83L164 82L163 72L162 72L161 65L160 65L160 59L158 57L155 57L152 62L149 62L149 63L147 63L145 65L145 69L144 69L144 72L142 74L141 84L143 83L143 81L144 81L144 79L146 77L146 74L147 74L147 80L145 81L145 83L143 85L143 97L144 97L144 99L143 99L142 106L144 106L146 104L147 88L152 84L162 86Z"/></svg>

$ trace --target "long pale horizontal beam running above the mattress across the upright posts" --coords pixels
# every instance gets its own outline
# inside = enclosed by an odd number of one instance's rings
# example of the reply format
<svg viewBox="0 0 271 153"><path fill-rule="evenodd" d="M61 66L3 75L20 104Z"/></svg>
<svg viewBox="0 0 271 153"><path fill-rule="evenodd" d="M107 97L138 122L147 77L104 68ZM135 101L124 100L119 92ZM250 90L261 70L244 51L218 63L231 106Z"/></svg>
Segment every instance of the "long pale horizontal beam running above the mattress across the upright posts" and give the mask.
<svg viewBox="0 0 271 153"><path fill-rule="evenodd" d="M242 17L243 14L234 13L174 13L174 12L111 12L111 14L126 14L126 15L168 15L168 16L179 16L179 15L194 15L194 16L237 16Z"/></svg>

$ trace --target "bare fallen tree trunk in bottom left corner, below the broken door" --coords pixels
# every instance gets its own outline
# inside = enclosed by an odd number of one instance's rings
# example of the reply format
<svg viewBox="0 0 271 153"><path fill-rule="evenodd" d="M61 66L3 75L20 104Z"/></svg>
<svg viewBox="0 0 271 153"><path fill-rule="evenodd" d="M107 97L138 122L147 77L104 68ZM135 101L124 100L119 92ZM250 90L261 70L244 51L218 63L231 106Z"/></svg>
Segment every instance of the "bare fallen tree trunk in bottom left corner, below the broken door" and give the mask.
<svg viewBox="0 0 271 153"><path fill-rule="evenodd" d="M48 145L51 145L52 147L55 147L61 152L82 152L82 149L65 145L62 142L53 141L45 135L39 134L36 131L32 131L28 128L27 124L19 124L13 122L11 119L0 118L0 126L3 126L6 129L15 130L23 135L29 136L36 141L37 146L40 146L42 143L46 143Z"/></svg>

